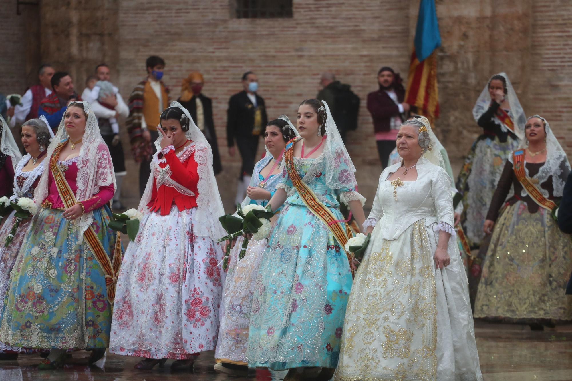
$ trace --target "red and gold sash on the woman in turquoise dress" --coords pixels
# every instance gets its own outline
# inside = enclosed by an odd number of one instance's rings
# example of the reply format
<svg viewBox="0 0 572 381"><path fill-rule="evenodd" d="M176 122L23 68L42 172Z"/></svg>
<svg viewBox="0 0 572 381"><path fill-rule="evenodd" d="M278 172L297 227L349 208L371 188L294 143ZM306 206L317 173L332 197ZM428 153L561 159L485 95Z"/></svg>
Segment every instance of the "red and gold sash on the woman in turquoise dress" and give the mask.
<svg viewBox="0 0 572 381"><path fill-rule="evenodd" d="M288 177L292 181L292 185L296 187L300 198L304 201L304 205L312 212L314 215L322 221L332 232L333 236L340 244L341 249L345 251L345 244L347 243L348 234L350 233L350 229L347 223L345 223L345 231L341 225L341 223L337 222L338 220L332 214L332 212L322 204L312 189L302 181L300 175L296 171L296 165L294 164L294 143L300 140L301 137L293 138L291 141L288 142L286 146L286 152L284 153L284 160L286 161L286 169L288 170ZM352 263L352 256L350 253L346 252L345 255L348 258L349 268L351 268ZM352 270L352 276L355 275L355 271Z"/></svg>

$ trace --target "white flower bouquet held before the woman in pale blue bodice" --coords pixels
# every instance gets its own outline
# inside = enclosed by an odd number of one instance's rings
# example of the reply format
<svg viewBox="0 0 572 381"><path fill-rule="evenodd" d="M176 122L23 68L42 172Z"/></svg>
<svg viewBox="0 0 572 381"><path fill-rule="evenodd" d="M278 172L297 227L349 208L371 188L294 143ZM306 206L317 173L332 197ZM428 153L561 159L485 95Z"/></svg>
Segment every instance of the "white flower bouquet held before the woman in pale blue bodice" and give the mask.
<svg viewBox="0 0 572 381"><path fill-rule="evenodd" d="M219 217L219 221L223 228L229 233L217 242L226 240L232 241L236 237L244 234L252 234L252 239L260 241L268 237L271 231L270 219L274 213L262 205L248 204L241 207L236 205L236 215L227 214ZM243 240L243 246L240 248L239 259L243 259L247 251L248 238ZM227 255L223 259L223 269L228 267L228 259L230 247L227 245Z"/></svg>

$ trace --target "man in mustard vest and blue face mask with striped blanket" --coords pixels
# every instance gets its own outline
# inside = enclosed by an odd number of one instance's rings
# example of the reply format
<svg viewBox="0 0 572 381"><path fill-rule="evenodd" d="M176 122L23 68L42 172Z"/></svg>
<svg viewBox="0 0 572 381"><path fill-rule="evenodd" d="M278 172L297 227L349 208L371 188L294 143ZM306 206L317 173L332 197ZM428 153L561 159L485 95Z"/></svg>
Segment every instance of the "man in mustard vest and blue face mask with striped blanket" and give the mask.
<svg viewBox="0 0 572 381"><path fill-rule="evenodd" d="M159 134L159 116L169 106L169 89L161 81L165 61L152 55L145 62L147 78L135 86L129 96L129 117L125 121L129 132L131 150L139 167L139 192L145 192L145 186L151 174L152 155L157 151L154 141Z"/></svg>

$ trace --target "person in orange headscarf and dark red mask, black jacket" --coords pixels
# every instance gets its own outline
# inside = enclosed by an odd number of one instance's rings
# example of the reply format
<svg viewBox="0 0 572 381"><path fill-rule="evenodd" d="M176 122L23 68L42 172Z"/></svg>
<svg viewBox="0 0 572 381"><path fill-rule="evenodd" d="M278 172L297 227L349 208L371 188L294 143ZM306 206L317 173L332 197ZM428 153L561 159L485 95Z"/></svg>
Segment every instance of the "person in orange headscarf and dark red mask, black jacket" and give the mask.
<svg viewBox="0 0 572 381"><path fill-rule="evenodd" d="M219 174L223 167L220 164L219 145L216 141L215 121L213 120L213 106L210 98L202 95L202 86L205 84L202 74L190 73L182 80L181 97L178 102L187 110L196 123L198 129L205 135L213 151L213 172Z"/></svg>

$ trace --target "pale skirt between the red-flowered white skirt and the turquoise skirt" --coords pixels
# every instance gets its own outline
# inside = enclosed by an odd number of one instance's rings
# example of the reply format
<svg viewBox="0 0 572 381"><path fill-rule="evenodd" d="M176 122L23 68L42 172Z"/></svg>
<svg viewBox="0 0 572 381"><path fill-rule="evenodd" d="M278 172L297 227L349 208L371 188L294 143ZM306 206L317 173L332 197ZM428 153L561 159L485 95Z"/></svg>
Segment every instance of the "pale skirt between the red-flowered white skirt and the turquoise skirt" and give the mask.
<svg viewBox="0 0 572 381"><path fill-rule="evenodd" d="M252 296L256 274L267 242L266 240L250 240L244 258L239 259L242 244L243 238L240 237L230 254L215 358L220 362L247 365L248 326Z"/></svg>

